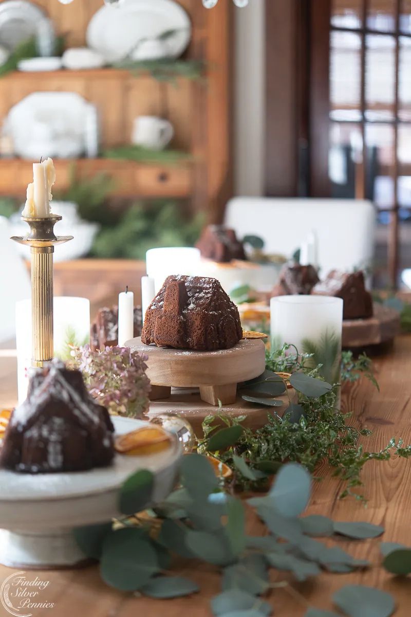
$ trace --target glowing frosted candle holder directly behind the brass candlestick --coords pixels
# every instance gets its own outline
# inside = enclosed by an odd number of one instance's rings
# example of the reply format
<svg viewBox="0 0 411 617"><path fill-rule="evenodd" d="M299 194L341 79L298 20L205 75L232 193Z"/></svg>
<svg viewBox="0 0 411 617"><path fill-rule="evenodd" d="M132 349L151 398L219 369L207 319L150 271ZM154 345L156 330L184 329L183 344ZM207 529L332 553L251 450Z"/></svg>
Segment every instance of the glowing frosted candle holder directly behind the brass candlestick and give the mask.
<svg viewBox="0 0 411 617"><path fill-rule="evenodd" d="M15 305L18 402L27 395L31 366L31 300ZM54 355L60 360L70 359L70 346L90 342L90 301L87 298L54 298Z"/></svg>

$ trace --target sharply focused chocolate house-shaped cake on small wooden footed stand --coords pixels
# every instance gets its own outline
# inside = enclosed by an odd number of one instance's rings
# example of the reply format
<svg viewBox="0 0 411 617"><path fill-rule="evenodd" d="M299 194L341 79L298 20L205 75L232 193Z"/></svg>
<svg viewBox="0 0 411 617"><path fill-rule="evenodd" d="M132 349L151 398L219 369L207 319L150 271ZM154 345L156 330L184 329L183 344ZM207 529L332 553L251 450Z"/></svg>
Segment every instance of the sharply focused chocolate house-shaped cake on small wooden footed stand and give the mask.
<svg viewBox="0 0 411 617"><path fill-rule="evenodd" d="M168 276L145 313L141 340L211 351L243 337L238 309L215 278Z"/></svg>

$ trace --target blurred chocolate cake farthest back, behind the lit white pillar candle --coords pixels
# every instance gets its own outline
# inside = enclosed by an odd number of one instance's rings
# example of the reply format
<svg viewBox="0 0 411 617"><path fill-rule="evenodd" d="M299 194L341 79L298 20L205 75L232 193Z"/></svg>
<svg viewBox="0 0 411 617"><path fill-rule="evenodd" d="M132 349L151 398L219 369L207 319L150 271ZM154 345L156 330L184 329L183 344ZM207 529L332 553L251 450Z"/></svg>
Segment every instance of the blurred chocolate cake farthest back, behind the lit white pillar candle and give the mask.
<svg viewBox="0 0 411 617"><path fill-rule="evenodd" d="M238 241L235 231L224 225L208 225L195 246L200 249L201 257L214 262L247 259L243 243Z"/></svg>

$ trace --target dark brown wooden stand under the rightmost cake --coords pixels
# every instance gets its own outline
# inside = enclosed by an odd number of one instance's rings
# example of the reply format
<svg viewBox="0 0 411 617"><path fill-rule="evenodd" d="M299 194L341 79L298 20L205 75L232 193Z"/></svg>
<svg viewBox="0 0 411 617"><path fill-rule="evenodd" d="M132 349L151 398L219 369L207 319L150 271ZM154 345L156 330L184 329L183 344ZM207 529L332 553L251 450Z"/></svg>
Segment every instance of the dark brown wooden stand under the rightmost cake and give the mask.
<svg viewBox="0 0 411 617"><path fill-rule="evenodd" d="M343 347L357 349L392 341L400 331L398 311L374 303L373 317L343 321Z"/></svg>

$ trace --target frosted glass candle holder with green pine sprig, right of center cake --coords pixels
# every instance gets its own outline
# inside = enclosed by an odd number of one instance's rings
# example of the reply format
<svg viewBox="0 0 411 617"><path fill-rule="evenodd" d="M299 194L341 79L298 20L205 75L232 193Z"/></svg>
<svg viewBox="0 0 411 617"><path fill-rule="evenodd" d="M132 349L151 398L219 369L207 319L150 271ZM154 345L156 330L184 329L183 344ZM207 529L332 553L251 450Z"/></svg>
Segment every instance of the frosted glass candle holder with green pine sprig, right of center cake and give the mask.
<svg viewBox="0 0 411 617"><path fill-rule="evenodd" d="M322 364L328 383L340 381L343 300L329 296L279 296L271 298L271 346L295 345L313 368Z"/></svg>

